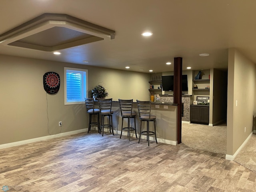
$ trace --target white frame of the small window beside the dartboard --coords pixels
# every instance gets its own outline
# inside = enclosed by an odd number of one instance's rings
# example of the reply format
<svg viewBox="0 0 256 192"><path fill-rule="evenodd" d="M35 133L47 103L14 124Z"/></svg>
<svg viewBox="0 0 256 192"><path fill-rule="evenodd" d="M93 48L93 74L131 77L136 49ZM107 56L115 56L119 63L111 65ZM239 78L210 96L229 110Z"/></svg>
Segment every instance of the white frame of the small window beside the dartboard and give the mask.
<svg viewBox="0 0 256 192"><path fill-rule="evenodd" d="M74 71L78 73L82 73L82 98L80 101L67 102L67 71ZM74 104L84 104L84 98L87 97L88 93L88 70L87 69L79 69L79 68L70 68L64 67L64 104L65 105L74 105Z"/></svg>

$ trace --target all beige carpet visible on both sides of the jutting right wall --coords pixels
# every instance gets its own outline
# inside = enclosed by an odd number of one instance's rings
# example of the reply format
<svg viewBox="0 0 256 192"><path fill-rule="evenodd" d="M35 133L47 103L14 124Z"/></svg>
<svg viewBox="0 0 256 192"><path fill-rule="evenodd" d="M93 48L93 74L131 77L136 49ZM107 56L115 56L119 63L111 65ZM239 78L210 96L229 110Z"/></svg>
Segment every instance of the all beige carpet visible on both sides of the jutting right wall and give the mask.
<svg viewBox="0 0 256 192"><path fill-rule="evenodd" d="M198 150L226 154L226 138L226 124L210 127L208 125L182 123L182 143L179 145ZM234 161L256 173L255 135L250 137Z"/></svg>

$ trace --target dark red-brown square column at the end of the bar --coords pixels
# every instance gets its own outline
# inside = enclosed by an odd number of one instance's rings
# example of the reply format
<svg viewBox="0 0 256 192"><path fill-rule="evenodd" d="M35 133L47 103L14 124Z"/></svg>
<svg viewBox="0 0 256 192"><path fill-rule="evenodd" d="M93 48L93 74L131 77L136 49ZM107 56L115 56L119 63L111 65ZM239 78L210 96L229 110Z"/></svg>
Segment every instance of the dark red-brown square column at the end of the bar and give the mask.
<svg viewBox="0 0 256 192"><path fill-rule="evenodd" d="M174 103L178 104L177 140L181 143L181 107L182 107L182 57L174 58Z"/></svg>

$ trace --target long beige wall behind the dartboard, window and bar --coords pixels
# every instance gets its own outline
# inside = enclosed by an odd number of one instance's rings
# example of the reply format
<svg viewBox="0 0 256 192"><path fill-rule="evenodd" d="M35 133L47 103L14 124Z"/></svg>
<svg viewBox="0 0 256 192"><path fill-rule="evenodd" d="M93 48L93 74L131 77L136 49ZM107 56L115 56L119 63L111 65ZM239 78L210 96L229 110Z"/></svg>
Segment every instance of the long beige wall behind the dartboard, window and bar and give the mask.
<svg viewBox="0 0 256 192"><path fill-rule="evenodd" d="M84 104L64 105L64 67L88 69L88 87L104 83L113 100L150 99L150 74L0 55L0 144L88 127ZM56 95L43 88L43 75L49 71L60 75Z"/></svg>

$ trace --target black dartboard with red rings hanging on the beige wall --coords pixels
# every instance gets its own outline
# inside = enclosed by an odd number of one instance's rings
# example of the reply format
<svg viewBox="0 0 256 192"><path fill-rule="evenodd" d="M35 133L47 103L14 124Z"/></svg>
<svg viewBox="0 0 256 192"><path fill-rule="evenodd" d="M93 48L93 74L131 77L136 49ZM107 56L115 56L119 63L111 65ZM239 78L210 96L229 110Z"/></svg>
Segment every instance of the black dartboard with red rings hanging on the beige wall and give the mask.
<svg viewBox="0 0 256 192"><path fill-rule="evenodd" d="M60 76L55 72L47 72L43 77L44 90L48 94L56 94L60 89Z"/></svg>

